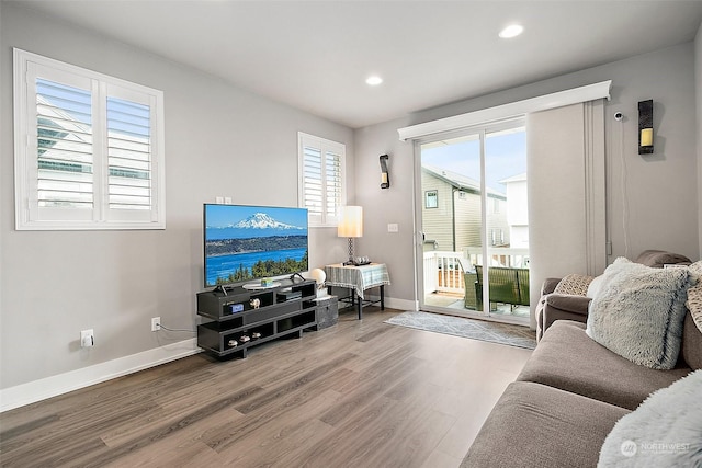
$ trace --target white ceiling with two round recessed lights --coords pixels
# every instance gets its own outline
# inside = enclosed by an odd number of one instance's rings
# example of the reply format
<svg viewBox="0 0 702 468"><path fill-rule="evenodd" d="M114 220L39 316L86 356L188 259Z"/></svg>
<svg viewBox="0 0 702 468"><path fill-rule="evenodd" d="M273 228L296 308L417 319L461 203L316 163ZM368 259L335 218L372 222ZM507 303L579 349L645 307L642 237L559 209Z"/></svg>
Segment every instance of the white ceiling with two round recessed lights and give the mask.
<svg viewBox="0 0 702 468"><path fill-rule="evenodd" d="M19 3L353 128L688 42L702 21L700 0Z"/></svg>

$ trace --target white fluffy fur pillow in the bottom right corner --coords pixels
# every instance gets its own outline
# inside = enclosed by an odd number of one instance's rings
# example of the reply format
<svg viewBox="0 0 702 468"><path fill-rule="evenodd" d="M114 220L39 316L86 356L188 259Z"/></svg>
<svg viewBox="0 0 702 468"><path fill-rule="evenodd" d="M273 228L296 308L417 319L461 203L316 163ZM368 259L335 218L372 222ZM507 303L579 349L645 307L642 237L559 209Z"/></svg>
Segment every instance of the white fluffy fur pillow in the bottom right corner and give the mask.
<svg viewBox="0 0 702 468"><path fill-rule="evenodd" d="M598 468L702 466L702 370L653 392L616 422Z"/></svg>

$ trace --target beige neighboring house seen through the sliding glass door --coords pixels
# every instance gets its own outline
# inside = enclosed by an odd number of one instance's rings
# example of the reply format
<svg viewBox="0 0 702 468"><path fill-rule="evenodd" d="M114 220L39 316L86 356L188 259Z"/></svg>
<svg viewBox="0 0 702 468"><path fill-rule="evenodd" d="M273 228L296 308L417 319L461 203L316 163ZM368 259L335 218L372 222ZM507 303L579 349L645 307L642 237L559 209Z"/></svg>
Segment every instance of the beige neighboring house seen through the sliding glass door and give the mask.
<svg viewBox="0 0 702 468"><path fill-rule="evenodd" d="M422 165L424 250L461 252L480 247L480 184L456 172ZM491 246L509 246L507 196L488 190L487 226Z"/></svg>

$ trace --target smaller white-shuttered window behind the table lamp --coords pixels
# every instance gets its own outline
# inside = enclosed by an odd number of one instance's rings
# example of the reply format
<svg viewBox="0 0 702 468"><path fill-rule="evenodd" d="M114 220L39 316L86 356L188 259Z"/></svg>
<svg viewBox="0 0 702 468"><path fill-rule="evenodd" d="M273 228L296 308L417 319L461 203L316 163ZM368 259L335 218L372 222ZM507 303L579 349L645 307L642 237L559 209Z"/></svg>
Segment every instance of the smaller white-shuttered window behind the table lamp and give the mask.
<svg viewBox="0 0 702 468"><path fill-rule="evenodd" d="M307 208L310 226L336 226L346 205L346 145L297 134L299 206Z"/></svg>

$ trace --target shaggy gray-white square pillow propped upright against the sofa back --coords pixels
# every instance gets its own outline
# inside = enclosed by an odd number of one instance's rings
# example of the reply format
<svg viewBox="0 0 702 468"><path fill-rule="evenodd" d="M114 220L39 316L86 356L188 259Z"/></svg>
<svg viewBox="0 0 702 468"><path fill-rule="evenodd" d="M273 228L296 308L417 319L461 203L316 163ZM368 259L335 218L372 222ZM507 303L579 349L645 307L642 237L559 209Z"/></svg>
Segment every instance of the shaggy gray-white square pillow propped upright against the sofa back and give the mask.
<svg viewBox="0 0 702 468"><path fill-rule="evenodd" d="M587 334L629 361L671 369L678 361L689 269L652 269L620 258L602 275L590 303Z"/></svg>

